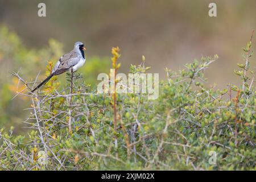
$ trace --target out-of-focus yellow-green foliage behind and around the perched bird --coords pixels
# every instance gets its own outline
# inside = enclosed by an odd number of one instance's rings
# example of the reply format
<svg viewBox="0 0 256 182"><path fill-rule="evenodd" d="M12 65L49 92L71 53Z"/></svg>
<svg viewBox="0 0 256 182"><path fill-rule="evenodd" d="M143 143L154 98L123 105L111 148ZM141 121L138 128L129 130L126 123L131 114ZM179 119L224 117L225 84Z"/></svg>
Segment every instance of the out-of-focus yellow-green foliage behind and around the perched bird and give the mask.
<svg viewBox="0 0 256 182"><path fill-rule="evenodd" d="M69 48L72 49L72 46ZM67 49L69 48L67 47ZM54 39L49 39L46 47L27 48L15 32L10 31L6 26L0 26L0 127L14 125L16 126L14 134L26 133L26 129L22 128L22 121L29 112L24 109L31 105L30 99L25 96L19 95L12 100L25 87L18 78L11 77L9 72L22 73L22 77L26 78L24 81L31 85L34 83L31 82L32 79L36 76L38 76L38 81L44 80L52 65L59 60L63 53L62 44ZM106 72L110 68L109 61L110 59L98 56L86 57L86 67L80 69L86 83L94 85L98 73ZM46 74L44 74L45 70L47 70ZM54 81L55 79L58 81ZM51 87L53 84L57 90L61 90L65 86L61 84L62 82L65 83L65 76L58 76L52 78L46 86ZM54 84L59 84L59 86Z"/></svg>

